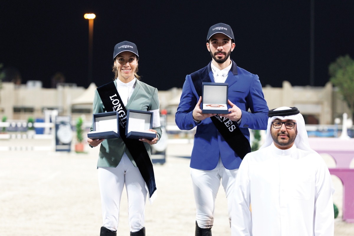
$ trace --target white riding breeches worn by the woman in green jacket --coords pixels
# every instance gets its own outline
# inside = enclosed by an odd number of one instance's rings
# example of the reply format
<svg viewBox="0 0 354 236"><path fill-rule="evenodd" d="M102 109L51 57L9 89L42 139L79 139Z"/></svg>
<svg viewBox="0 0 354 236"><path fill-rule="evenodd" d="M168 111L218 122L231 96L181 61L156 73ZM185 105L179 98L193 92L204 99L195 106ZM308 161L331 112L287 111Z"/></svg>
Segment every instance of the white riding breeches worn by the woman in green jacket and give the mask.
<svg viewBox="0 0 354 236"><path fill-rule="evenodd" d="M117 167L98 168L98 183L102 200L103 226L112 231L117 230L120 200L125 184L130 232L142 229L147 190L138 167L131 163L125 153Z"/></svg>

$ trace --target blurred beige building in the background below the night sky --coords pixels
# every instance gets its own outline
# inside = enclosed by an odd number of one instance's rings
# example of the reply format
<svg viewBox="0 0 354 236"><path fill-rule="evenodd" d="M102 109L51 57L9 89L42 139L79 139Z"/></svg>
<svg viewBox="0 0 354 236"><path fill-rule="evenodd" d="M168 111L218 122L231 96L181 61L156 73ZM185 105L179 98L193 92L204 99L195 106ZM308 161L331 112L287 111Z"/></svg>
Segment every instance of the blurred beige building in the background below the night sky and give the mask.
<svg viewBox="0 0 354 236"><path fill-rule="evenodd" d="M54 78L53 82L61 81ZM92 116L92 101L97 86L94 83L85 89L73 83L56 83L56 88L42 88L40 81L26 84L2 82L0 89L0 117L8 120L27 120L29 117L42 118L44 110L57 110L60 116ZM324 87L292 86L284 81L281 88L263 87L269 109L280 106L295 106L304 115L306 124L334 124L349 107L341 94L327 82ZM167 111L167 123L174 123L181 88L159 91L160 110Z"/></svg>

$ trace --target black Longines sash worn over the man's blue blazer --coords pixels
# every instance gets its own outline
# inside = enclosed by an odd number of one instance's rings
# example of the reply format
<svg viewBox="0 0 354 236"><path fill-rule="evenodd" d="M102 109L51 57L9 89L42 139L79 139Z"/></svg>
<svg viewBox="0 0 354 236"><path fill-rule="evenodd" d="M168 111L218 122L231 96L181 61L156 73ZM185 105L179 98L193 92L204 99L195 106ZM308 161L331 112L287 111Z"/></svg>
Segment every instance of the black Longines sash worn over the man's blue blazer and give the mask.
<svg viewBox="0 0 354 236"><path fill-rule="evenodd" d="M190 76L198 96L201 96L202 82L211 82L208 70L205 68L201 74L192 73ZM218 115L212 116L210 119L224 137L225 141L241 159L243 159L247 153L251 152L250 142L244 134L242 134L239 126L234 121Z"/></svg>

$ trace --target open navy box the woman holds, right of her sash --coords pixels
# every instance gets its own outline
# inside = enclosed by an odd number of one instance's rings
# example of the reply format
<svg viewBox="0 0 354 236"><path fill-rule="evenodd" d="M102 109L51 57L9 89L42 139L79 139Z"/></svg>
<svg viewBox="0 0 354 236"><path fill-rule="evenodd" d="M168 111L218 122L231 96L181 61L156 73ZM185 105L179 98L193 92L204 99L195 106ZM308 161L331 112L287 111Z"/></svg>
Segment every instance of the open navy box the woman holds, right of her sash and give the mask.
<svg viewBox="0 0 354 236"><path fill-rule="evenodd" d="M133 139L154 139L156 133L149 131L153 126L153 115L154 113L149 111L128 110L127 126L125 129L126 137Z"/></svg>

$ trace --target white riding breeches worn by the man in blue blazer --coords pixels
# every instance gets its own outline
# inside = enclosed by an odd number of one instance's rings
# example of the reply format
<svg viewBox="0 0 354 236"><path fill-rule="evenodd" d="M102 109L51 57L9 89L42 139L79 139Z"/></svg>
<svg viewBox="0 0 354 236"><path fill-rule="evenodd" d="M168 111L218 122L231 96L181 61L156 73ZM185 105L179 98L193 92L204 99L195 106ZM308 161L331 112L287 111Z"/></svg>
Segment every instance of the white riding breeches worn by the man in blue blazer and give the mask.
<svg viewBox="0 0 354 236"><path fill-rule="evenodd" d="M229 223L231 223L232 198L238 169L228 170L219 163L213 170L190 169L196 205L196 221L200 228L211 228L214 223L215 199L221 184L225 190Z"/></svg>

